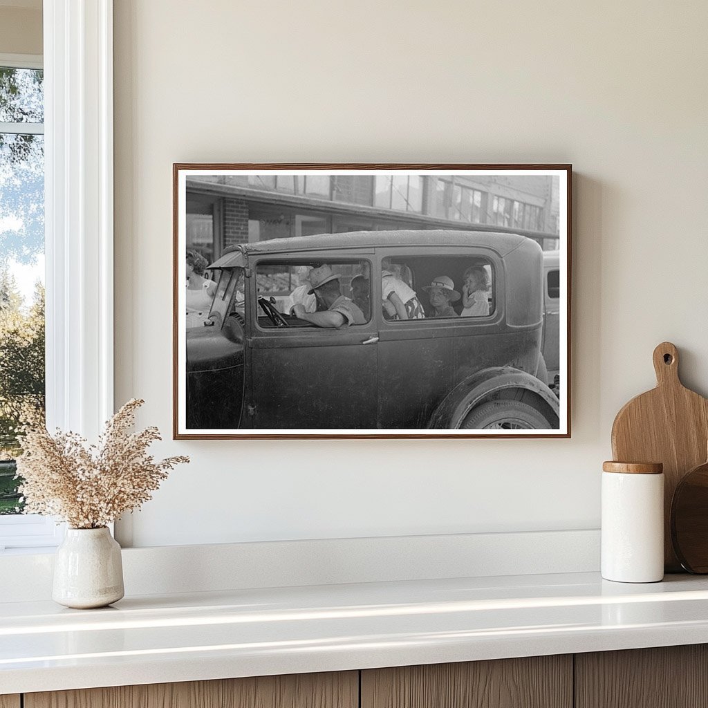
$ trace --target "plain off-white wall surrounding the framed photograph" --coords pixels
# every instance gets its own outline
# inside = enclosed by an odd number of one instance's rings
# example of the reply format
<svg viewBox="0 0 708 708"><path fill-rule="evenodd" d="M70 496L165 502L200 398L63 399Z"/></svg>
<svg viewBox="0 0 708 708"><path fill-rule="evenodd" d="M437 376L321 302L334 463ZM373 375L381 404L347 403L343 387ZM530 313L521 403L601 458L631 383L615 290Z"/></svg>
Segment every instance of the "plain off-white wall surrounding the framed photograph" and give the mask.
<svg viewBox="0 0 708 708"><path fill-rule="evenodd" d="M135 545L599 525L651 352L708 392L708 5L115 0L116 392L171 430L171 164L571 162L571 440L164 442ZM129 529L124 527L124 534Z"/></svg>

